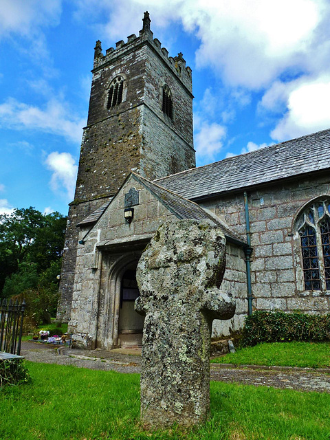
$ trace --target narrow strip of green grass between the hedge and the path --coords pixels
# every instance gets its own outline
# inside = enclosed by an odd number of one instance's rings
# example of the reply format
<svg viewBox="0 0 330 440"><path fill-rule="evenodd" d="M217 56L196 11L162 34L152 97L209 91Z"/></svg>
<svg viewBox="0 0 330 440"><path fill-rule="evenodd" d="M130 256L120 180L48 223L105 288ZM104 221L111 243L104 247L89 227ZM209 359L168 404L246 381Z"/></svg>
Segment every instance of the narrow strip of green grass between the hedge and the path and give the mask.
<svg viewBox="0 0 330 440"><path fill-rule="evenodd" d="M330 367L329 342L273 342L258 344L211 360L218 364Z"/></svg>

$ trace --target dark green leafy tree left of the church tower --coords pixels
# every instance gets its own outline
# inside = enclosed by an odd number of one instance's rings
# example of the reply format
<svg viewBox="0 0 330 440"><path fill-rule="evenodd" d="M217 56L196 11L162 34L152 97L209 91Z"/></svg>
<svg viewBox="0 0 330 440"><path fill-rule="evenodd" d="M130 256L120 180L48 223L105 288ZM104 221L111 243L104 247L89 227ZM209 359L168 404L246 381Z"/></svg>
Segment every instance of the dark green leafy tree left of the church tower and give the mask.
<svg viewBox="0 0 330 440"><path fill-rule="evenodd" d="M42 214L32 206L0 215L0 297L36 287L35 276L61 259L65 225L59 212Z"/></svg>

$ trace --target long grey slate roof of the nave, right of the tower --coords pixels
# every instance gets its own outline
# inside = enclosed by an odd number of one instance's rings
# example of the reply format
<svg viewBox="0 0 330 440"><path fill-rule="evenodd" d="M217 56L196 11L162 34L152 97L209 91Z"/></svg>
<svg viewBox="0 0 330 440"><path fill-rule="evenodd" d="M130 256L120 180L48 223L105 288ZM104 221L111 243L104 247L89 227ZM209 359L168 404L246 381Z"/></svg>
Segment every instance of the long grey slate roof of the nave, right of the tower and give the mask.
<svg viewBox="0 0 330 440"><path fill-rule="evenodd" d="M330 129L154 180L187 199L330 168Z"/></svg>

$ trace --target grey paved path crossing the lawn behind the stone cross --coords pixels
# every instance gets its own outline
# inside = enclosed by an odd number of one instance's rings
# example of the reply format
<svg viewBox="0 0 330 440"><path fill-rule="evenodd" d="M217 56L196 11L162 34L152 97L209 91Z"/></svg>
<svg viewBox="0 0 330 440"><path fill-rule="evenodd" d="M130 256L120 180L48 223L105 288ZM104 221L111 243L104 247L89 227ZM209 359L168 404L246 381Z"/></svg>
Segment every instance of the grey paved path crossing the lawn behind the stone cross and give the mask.
<svg viewBox="0 0 330 440"><path fill-rule="evenodd" d="M140 351L138 349L117 349L111 351L78 350L52 347L37 342L22 342L21 355L33 362L74 365L80 368L140 373ZM330 393L330 369L291 369L289 367L233 368L211 364L211 380L239 382L254 386L274 386L299 391L325 391Z"/></svg>

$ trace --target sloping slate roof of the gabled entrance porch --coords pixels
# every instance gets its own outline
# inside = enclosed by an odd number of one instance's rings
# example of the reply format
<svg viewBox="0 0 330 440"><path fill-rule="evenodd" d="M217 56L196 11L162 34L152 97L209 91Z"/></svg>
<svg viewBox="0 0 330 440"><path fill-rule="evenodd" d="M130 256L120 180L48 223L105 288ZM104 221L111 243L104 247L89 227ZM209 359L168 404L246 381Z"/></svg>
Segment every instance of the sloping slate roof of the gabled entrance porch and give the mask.
<svg viewBox="0 0 330 440"><path fill-rule="evenodd" d="M155 197L161 201L170 212L175 214L178 219L196 219L200 221L208 221L219 226L226 238L232 239L236 242L239 241L241 244L245 243L245 241L243 241L241 237L236 234L236 232L234 232L224 221L213 216L197 205L197 203L184 199L184 197L166 190L155 184L155 182L151 182L136 173L132 172L132 175L135 177L135 179L137 179L137 181L140 181L143 186L152 192L153 195L155 195Z"/></svg>

